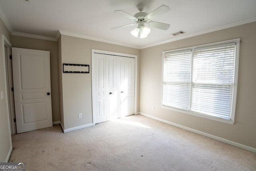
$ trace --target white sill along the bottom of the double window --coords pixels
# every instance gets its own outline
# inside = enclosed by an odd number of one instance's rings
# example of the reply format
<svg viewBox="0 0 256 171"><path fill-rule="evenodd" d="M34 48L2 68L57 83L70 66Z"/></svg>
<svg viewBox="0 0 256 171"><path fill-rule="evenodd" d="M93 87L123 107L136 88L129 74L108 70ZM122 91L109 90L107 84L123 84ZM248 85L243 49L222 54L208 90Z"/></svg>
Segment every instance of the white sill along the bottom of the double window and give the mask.
<svg viewBox="0 0 256 171"><path fill-rule="evenodd" d="M181 113L186 113L186 114L189 114L189 115L194 115L194 116L203 117L203 118L206 118L206 119L211 119L211 120L214 120L214 121L219 121L219 122L234 125L234 121L227 120L227 119L221 119L221 118L210 116L210 115L204 115L204 114L200 114L200 113L196 113L196 112L192 112L192 111L185 111L185 110L176 109L176 108L168 107L168 106L164 106L164 105L161 105L161 107L164 108L164 109L172 110L172 111L178 111L178 112L181 112Z"/></svg>

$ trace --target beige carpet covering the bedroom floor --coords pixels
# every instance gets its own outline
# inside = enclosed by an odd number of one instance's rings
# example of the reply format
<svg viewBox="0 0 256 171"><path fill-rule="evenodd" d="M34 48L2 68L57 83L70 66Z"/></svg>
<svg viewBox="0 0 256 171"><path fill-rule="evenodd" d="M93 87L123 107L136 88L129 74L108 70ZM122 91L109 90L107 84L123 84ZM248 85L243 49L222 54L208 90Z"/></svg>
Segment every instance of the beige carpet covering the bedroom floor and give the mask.
<svg viewBox="0 0 256 171"><path fill-rule="evenodd" d="M255 153L142 115L12 138L9 162L26 162L26 171L256 171Z"/></svg>

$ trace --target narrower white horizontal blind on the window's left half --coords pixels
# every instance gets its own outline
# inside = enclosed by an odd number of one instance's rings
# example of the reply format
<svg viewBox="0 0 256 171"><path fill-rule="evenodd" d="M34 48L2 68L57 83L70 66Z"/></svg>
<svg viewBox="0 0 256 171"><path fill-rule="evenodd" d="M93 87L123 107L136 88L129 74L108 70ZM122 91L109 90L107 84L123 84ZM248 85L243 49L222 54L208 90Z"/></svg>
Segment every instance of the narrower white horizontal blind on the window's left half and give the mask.
<svg viewBox="0 0 256 171"><path fill-rule="evenodd" d="M191 50L164 55L162 104L184 110L190 105Z"/></svg>

